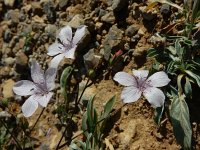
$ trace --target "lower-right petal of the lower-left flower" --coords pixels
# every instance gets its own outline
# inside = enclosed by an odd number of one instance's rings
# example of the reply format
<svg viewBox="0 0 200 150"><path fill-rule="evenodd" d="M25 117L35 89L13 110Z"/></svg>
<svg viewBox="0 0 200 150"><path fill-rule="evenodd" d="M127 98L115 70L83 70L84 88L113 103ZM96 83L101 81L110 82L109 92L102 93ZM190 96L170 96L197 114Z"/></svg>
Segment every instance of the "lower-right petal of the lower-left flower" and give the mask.
<svg viewBox="0 0 200 150"><path fill-rule="evenodd" d="M35 95L34 100L37 101L42 107L46 107L49 103L51 97L53 96L53 92L49 92L44 95Z"/></svg>

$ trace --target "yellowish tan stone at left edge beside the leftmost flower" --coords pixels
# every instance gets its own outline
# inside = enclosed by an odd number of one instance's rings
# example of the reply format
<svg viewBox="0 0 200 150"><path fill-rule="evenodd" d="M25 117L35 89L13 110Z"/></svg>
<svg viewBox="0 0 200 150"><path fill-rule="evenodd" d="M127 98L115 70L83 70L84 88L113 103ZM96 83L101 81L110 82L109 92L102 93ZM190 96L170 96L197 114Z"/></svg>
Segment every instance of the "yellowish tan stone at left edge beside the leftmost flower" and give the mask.
<svg viewBox="0 0 200 150"><path fill-rule="evenodd" d="M2 94L3 94L4 98L11 98L11 97L14 96L13 90L12 90L14 84L15 84L15 81L13 81L12 79L9 79L9 80L6 80L6 81L3 82L3 84L2 84L2 88L3 88Z"/></svg>

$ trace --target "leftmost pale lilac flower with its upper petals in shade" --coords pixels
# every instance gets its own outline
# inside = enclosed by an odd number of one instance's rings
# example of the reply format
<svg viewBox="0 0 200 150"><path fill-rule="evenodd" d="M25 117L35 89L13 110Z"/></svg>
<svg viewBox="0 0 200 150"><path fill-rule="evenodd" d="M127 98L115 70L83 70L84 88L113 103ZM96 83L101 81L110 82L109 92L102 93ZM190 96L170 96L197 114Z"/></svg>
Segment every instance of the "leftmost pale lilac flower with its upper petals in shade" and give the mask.
<svg viewBox="0 0 200 150"><path fill-rule="evenodd" d="M13 86L13 91L20 96L30 97L22 105L22 112L25 117L30 117L38 108L38 104L46 107L51 99L55 88L56 69L48 68L44 73L39 64L34 60L31 64L32 81L21 80Z"/></svg>

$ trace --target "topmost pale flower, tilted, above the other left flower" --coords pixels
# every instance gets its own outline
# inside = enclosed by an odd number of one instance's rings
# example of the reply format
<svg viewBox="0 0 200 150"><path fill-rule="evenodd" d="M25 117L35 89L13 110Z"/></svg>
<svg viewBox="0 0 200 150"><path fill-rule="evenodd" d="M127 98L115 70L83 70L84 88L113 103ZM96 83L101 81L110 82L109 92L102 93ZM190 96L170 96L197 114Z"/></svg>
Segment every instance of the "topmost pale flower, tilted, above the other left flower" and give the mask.
<svg viewBox="0 0 200 150"><path fill-rule="evenodd" d="M50 45L48 48L48 55L57 55L51 60L50 67L57 68L64 57L74 59L77 44L85 35L85 28L86 26L78 27L73 38L70 26L65 26L60 30L57 37L58 41Z"/></svg>

